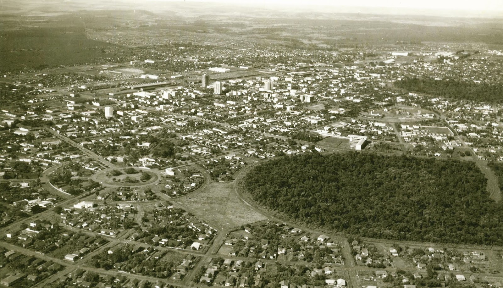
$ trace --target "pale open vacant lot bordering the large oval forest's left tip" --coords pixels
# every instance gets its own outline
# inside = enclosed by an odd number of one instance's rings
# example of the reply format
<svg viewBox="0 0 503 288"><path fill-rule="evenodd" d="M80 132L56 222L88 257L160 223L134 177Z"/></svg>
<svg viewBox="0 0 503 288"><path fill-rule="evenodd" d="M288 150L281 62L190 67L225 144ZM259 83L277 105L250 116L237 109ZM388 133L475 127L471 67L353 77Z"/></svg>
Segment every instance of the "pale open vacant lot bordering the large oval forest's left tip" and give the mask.
<svg viewBox="0 0 503 288"><path fill-rule="evenodd" d="M232 183L211 183L201 191L190 193L173 201L180 203L197 217L217 228L237 227L265 220L266 217L237 198Z"/></svg>

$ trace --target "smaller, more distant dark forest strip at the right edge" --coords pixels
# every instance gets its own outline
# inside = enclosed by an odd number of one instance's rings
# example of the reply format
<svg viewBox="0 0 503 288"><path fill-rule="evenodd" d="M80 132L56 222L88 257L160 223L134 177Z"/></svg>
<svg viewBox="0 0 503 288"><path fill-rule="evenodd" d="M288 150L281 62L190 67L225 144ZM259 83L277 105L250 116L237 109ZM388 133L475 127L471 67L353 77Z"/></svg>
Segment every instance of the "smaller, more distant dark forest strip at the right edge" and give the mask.
<svg viewBox="0 0 503 288"><path fill-rule="evenodd" d="M407 78L395 81L395 87L407 91L438 95L455 100L503 102L503 84L475 83L432 78Z"/></svg>

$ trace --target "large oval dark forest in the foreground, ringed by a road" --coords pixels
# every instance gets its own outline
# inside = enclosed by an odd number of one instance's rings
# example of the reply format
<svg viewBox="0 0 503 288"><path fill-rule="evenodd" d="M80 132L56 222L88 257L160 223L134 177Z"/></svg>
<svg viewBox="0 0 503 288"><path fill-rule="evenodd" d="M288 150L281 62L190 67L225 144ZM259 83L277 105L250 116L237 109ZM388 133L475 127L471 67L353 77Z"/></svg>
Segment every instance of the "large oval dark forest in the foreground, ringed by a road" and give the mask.
<svg viewBox="0 0 503 288"><path fill-rule="evenodd" d="M306 153L254 167L244 186L292 220L352 235L503 245L503 205L472 162Z"/></svg>

